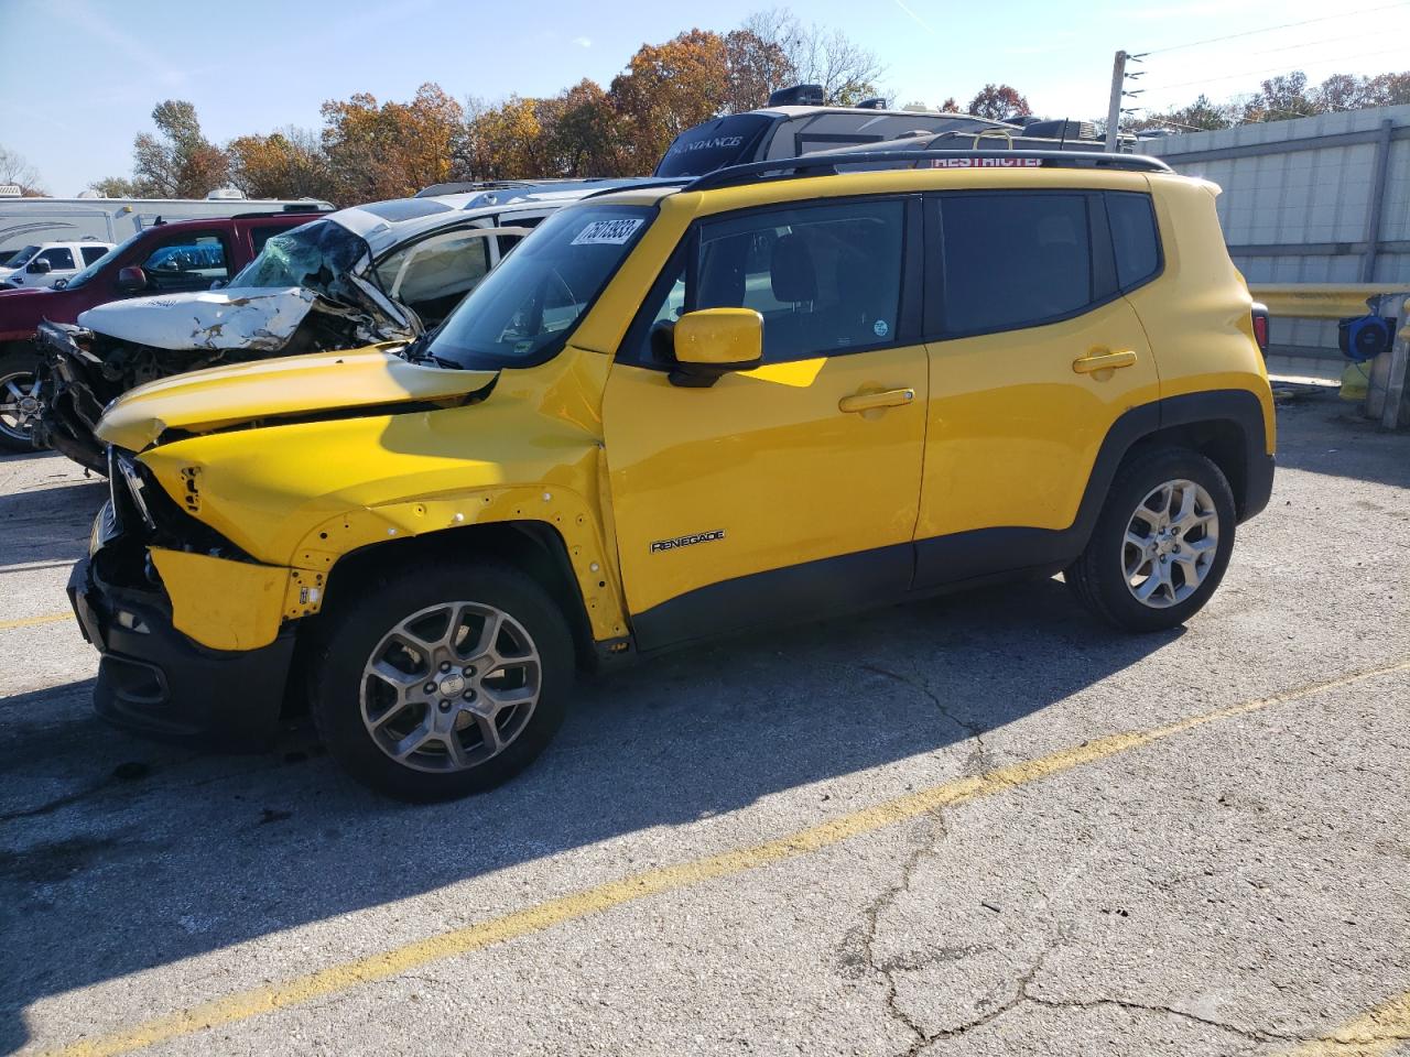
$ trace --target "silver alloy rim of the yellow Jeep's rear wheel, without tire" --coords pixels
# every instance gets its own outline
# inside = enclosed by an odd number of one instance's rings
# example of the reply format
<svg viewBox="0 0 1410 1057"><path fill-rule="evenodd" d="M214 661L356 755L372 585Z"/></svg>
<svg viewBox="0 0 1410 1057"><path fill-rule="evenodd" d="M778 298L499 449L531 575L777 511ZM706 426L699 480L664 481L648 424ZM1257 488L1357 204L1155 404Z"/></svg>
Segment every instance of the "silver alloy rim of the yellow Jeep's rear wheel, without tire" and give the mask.
<svg viewBox="0 0 1410 1057"><path fill-rule="evenodd" d="M1127 523L1121 567L1144 606L1167 609L1198 591L1220 547L1220 516L1193 481L1167 481L1142 499Z"/></svg>

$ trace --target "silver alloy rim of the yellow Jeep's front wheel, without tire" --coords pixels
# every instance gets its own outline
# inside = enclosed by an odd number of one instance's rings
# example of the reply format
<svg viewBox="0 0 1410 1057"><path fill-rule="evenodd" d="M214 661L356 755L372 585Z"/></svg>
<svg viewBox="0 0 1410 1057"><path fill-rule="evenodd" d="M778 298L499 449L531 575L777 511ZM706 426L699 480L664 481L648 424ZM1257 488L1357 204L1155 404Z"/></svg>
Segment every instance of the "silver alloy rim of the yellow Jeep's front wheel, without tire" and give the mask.
<svg viewBox="0 0 1410 1057"><path fill-rule="evenodd" d="M417 771L465 771L499 755L539 703L543 664L523 624L479 602L444 602L398 623L362 668L362 724Z"/></svg>

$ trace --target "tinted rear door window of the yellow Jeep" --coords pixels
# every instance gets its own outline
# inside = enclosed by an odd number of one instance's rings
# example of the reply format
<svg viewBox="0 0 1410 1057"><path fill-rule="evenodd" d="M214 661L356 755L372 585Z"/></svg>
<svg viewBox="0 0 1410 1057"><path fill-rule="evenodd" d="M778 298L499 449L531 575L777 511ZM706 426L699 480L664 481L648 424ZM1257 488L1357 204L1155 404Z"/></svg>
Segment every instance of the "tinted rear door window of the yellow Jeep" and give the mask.
<svg viewBox="0 0 1410 1057"><path fill-rule="evenodd" d="M1093 303L1087 196L943 194L946 334L1017 330Z"/></svg>

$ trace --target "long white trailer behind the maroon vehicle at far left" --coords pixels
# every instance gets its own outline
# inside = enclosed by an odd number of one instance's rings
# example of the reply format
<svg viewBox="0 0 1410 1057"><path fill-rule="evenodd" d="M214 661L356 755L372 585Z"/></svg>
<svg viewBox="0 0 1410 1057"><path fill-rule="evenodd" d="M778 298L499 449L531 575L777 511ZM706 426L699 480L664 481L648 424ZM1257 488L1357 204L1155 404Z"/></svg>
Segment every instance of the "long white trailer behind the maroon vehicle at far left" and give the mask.
<svg viewBox="0 0 1410 1057"><path fill-rule="evenodd" d="M210 220L241 213L333 210L316 199L247 199L213 190L204 199L13 199L0 196L0 259L42 242L121 242L158 220ZM82 265L80 265L82 266ZM27 286L30 283L25 283Z"/></svg>

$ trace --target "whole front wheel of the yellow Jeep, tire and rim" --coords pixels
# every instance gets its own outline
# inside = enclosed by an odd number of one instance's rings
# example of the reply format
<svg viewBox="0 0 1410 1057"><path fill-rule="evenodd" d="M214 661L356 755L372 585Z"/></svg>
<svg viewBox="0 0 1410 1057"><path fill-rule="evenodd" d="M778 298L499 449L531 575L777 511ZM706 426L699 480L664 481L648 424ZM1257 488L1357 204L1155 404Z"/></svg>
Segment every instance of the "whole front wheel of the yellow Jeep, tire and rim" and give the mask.
<svg viewBox="0 0 1410 1057"><path fill-rule="evenodd" d="M563 723L572 636L509 565L403 567L336 613L324 640L313 719L333 758L391 796L489 789Z"/></svg>

